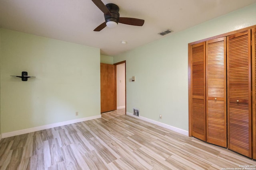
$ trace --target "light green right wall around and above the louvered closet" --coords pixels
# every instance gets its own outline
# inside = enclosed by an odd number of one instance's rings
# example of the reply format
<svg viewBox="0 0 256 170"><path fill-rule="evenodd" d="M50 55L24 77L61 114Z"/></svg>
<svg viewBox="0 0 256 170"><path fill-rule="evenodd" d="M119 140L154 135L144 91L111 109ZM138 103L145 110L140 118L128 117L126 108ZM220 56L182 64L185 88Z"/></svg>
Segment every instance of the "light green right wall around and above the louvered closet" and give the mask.
<svg viewBox="0 0 256 170"><path fill-rule="evenodd" d="M253 4L114 56L114 63L126 60L127 111L136 107L143 117L188 131L188 43L256 25L255 16Z"/></svg>

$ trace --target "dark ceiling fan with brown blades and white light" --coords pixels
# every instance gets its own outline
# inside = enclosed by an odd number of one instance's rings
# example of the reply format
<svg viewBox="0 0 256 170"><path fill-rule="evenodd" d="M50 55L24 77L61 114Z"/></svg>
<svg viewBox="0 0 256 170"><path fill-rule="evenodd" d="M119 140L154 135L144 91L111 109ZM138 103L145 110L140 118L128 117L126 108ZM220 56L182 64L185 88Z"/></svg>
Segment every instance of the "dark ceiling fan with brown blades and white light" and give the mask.
<svg viewBox="0 0 256 170"><path fill-rule="evenodd" d="M104 13L105 22L96 27L93 31L100 31L103 28L116 27L118 23L124 23L128 25L142 26L144 20L137 18L119 17L119 7L116 4L104 5L101 0L92 0L92 2Z"/></svg>

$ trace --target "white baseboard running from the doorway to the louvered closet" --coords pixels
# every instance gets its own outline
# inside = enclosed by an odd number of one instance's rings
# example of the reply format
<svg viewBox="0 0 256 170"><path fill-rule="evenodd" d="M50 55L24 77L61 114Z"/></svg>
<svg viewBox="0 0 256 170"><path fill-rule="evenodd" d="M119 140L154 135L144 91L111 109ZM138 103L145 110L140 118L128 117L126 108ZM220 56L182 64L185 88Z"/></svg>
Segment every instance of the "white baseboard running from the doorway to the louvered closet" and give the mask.
<svg viewBox="0 0 256 170"><path fill-rule="evenodd" d="M171 126L171 125L167 125L167 124L161 123L161 122L159 122L159 121L155 121L155 120L152 120L152 119L148 119L148 118L146 118L146 117L135 116L135 115L133 115L132 113L129 113L129 112L126 112L126 115L129 115L129 116L135 117L135 118L137 118L137 119L141 119L141 120L147 121L147 122L152 123L152 124L154 124L154 125L158 125L158 126L160 126L160 127L164 127L164 128L169 129L169 130L171 130L171 131L174 131L174 132L180 133L180 134L182 134L182 135L188 136L188 131L185 131L185 130L180 129L180 128L178 128L178 127L173 127L173 126Z"/></svg>

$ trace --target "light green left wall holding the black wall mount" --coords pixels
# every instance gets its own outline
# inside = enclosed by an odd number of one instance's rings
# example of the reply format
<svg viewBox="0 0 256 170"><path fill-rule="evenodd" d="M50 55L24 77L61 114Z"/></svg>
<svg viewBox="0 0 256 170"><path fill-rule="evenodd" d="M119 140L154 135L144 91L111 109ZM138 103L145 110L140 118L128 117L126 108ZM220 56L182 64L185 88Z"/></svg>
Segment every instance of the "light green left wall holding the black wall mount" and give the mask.
<svg viewBox="0 0 256 170"><path fill-rule="evenodd" d="M0 33L2 133L100 115L100 49ZM22 71L36 78L10 76Z"/></svg>

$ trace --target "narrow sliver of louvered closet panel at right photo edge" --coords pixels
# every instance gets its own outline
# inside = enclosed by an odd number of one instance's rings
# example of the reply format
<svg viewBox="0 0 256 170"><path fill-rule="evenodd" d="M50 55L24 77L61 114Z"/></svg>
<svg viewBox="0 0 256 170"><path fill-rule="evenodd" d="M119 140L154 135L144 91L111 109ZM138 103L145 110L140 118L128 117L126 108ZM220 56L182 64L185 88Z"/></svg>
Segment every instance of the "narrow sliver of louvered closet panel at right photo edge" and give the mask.
<svg viewBox="0 0 256 170"><path fill-rule="evenodd" d="M252 29L252 157L256 159L256 28Z"/></svg>

